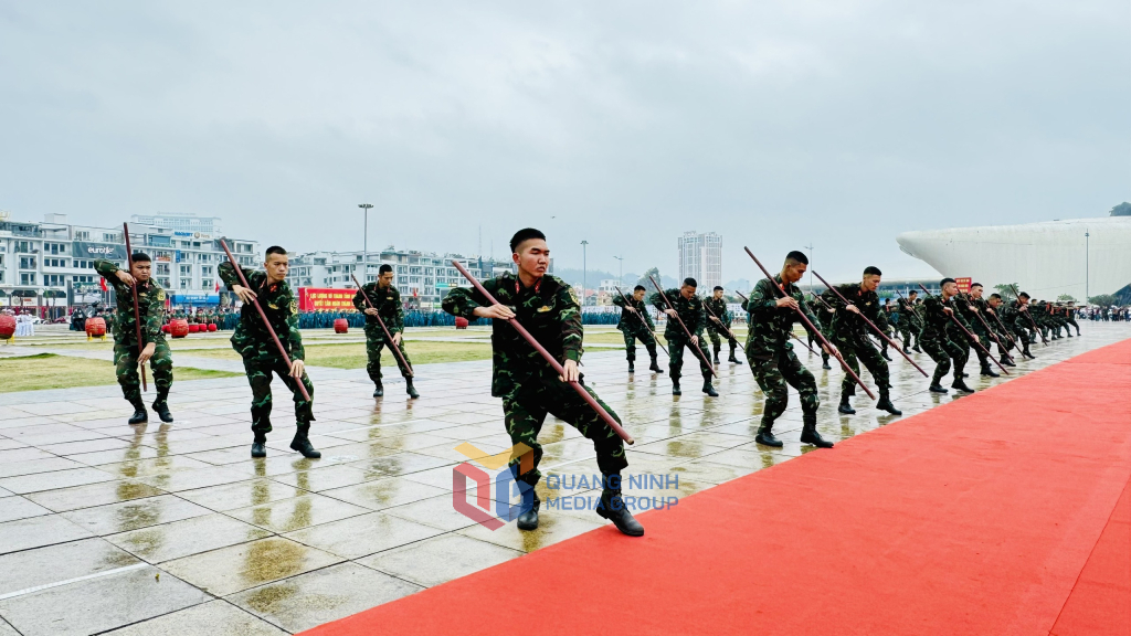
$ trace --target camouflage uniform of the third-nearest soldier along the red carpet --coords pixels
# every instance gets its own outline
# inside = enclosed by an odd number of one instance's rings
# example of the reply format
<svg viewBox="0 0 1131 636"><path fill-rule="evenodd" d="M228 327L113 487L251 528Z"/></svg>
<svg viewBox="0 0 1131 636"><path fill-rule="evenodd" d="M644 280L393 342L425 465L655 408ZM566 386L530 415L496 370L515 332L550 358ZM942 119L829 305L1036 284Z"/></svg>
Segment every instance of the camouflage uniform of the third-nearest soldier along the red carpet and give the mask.
<svg viewBox="0 0 1131 636"><path fill-rule="evenodd" d="M884 333L888 332L888 317L884 311L880 310L880 296L875 292L861 291L860 283L837 285L836 289L877 327ZM888 361L872 344L872 340L869 337L871 327L864 323L863 318L845 309L845 302L832 290L827 290L821 294L821 298L836 309L829 330L832 333L832 344L840 350L840 356L857 376L860 376L860 361L864 362L864 367L875 380L877 388L880 389L880 399L888 399L891 389ZM840 395L846 397L856 395L856 380L848 373L845 373L840 381Z"/></svg>

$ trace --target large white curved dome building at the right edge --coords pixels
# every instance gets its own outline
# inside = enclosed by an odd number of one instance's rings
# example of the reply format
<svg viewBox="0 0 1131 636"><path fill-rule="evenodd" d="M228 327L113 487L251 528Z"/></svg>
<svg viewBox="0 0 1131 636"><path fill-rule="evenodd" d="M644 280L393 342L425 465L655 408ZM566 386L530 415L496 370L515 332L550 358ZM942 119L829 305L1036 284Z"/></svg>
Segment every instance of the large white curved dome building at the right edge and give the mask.
<svg viewBox="0 0 1131 636"><path fill-rule="evenodd" d="M1085 300L1131 283L1129 216L925 230L896 241L944 276L969 276L990 289L1017 283L1034 299Z"/></svg>

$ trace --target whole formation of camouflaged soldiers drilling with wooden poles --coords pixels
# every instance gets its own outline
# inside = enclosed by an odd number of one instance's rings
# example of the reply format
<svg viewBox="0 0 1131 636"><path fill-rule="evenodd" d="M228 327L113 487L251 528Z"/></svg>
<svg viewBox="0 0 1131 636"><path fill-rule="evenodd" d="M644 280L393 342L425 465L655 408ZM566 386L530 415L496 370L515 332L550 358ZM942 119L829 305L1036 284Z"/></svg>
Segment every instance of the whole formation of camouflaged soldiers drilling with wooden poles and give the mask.
<svg viewBox="0 0 1131 636"><path fill-rule="evenodd" d="M520 230L511 240L511 251L517 274L502 274L483 282L480 289L455 289L444 298L442 307L456 317L492 319L491 393L502 399L506 429L513 444L510 471L523 492L518 526L523 530L538 526L539 500L534 487L541 479L538 464L542 447L537 437L546 415L553 414L576 427L594 445L603 474L603 491L596 513L611 519L624 534L642 535L644 527L625 508L621 496L620 475L628 467L622 439L624 433L614 430L616 427L611 423L619 423L620 418L592 388L585 386L584 375L578 369L584 327L577 294L572 286L546 274L550 248L542 232ZM314 421L314 386L305 372L297 303L286 283L288 267L286 250L273 246L267 249L261 270L238 268L232 263L223 263L217 268L227 289L243 302L231 341L243 360L252 390L252 457L265 457L267 454L267 435L273 429L270 385L274 376L278 376L293 395L297 426L291 448L304 457L321 457L309 437ZM978 283L974 283L968 293L960 293L953 278L941 281L939 295L924 289L925 298L918 298L918 293L913 291L907 296L900 294L893 304L881 304L877 290L882 273L877 267L865 268L858 283L836 285L806 299L797 282L808 267L809 259L803 252L788 252L782 269L760 280L741 304L746 311L748 325L744 359L765 395L756 440L768 447L783 446L774 436L774 424L787 407L787 387L791 386L797 390L802 407L801 441L820 448L832 447L832 442L817 431L820 405L817 380L795 354L794 340L811 351L817 344L824 369L830 368L830 358L836 358L846 371L851 371L845 373L840 385L839 413L855 413L851 399L857 386L864 387L871 395L860 379L863 367L878 388L877 409L900 415L890 395L889 343L898 347L897 352L901 352L908 361L912 361L909 354L914 351L926 353L935 362L931 392L944 394L953 389L973 393L974 389L965 381L972 350L977 356L981 375L999 377L991 363L1004 370L1005 367L1017 366L1013 354L1035 358L1030 345L1038 337L1042 341L1073 337L1073 329L1077 336L1080 335L1076 319L1078 309L1072 302L1033 302L1025 292L1017 292L1016 298L1005 301L1000 293L986 296ZM129 272L121 270L109 260L96 261L95 269L118 292L116 319L113 323L114 363L123 396L135 407L129 423L148 421L138 378L138 368L145 362L149 362L153 369L157 389L152 407L162 421L172 422L167 397L173 380L173 361L161 330L166 319L165 292L152 278L149 257L135 253ZM373 396L382 397L381 353L389 347L395 353L406 393L409 398L417 398L420 394L413 384L412 362L403 341L404 304L392 280L392 267L382 265L378 280L362 285L354 296L354 306L365 320L366 371L374 384ZM135 319L131 287L137 290L136 309L140 329ZM726 361L741 363L736 355L739 342L731 329L734 316L722 287L711 290L707 298L698 295L697 287L694 278L685 278L679 287L661 290L657 285L657 291L650 295L644 285L637 285L631 295L619 291L613 300L621 308L618 328L624 337L630 373L636 371L638 342L648 352L648 371L651 373L664 373L657 358L663 350L668 358L672 394L680 395L683 358L690 352L699 364L702 393L708 397L718 397L713 379L716 367L722 363L724 340L729 346ZM649 304L667 317L663 342L649 316ZM216 320L218 316L209 312L197 315L202 316L205 324L209 319ZM509 325L511 321L525 327L533 340L528 341L526 335L512 328ZM797 323L806 332L809 345L794 334ZM879 340L873 340L875 337ZM895 337L903 343L897 343ZM713 344L713 355L706 349L708 338ZM544 352L532 346L535 343ZM996 353L992 353L993 346L996 346ZM547 364L543 354L556 360L560 367ZM949 389L942 386L948 375L952 377ZM582 394L588 395L592 402L582 399Z"/></svg>

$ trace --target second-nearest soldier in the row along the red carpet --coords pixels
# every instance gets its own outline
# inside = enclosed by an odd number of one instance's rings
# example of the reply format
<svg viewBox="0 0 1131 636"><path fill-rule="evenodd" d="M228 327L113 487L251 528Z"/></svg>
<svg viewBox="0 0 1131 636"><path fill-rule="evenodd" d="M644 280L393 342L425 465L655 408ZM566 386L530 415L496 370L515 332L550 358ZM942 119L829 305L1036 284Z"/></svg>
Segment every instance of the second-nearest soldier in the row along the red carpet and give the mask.
<svg viewBox="0 0 1131 636"><path fill-rule="evenodd" d="M788 385L801 395L804 422L801 441L820 448L832 447L831 441L817 432L817 407L821 404L821 398L817 395L817 380L797 360L793 353L793 343L789 342L798 309L805 312L813 326L820 328L821 325L817 316L809 311L805 296L796 285L808 268L809 258L804 252L791 251L774 281L758 281L742 307L750 312L751 318L750 332L746 334L746 360L754 373L754 381L766 395L762 422L754 439L766 446L783 446L774 437L774 421L785 412L788 404Z"/></svg>

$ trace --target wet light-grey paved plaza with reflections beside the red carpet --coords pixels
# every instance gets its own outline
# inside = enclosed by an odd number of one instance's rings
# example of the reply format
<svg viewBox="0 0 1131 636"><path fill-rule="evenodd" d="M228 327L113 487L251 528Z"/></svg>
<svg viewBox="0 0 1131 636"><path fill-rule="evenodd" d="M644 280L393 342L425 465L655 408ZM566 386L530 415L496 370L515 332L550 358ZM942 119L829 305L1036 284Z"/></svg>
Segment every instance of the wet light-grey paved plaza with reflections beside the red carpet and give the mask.
<svg viewBox="0 0 1131 636"><path fill-rule="evenodd" d="M1037 359L1018 359L1010 372L1131 333L1125 324L1081 328L1082 337L1034 345ZM840 370L822 371L819 356L795 346L818 378L819 430L834 441L961 399L929 393L892 351L891 395L904 414L878 412L858 394L857 414L839 415ZM278 380L266 459L249 457L251 392L240 377L175 383L172 424L128 426L116 386L0 394L0 636L296 633L585 532L615 533L592 510L544 505L539 528L520 532L513 523L487 530L454 509L452 469L467 459L456 447L491 455L510 446L490 369L417 366L422 397L408 401L389 373L386 397L374 399L362 369L310 368L321 459L287 448L293 410ZM966 369L977 389L1009 381L979 377L973 355ZM785 447L758 446L763 399L744 364L719 367L717 398L699 393L693 372L679 397L666 372L630 377L623 352L590 349L582 371L636 437L627 473L679 475L677 488L653 482L627 496L685 497L803 453L836 453L801 445L792 390L775 428ZM1034 395L1033 407L1063 397ZM568 424L547 419L539 439L544 474L599 474L590 442ZM547 482L544 501L562 495ZM460 497L476 495L472 487ZM657 514L640 517L646 528Z"/></svg>

